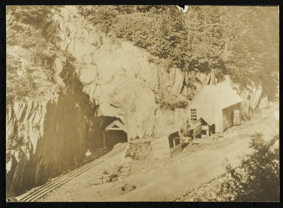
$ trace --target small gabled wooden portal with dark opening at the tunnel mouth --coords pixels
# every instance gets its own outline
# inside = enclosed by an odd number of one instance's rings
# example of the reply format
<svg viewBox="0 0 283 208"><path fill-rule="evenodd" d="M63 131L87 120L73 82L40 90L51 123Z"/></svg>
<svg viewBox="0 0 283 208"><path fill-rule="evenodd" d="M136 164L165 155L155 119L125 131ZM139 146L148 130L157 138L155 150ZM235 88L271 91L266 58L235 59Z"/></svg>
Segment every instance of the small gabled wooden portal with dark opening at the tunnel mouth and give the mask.
<svg viewBox="0 0 283 208"><path fill-rule="evenodd" d="M117 143L128 142L128 133L125 125L119 120L113 121L103 132L104 147L112 147Z"/></svg>

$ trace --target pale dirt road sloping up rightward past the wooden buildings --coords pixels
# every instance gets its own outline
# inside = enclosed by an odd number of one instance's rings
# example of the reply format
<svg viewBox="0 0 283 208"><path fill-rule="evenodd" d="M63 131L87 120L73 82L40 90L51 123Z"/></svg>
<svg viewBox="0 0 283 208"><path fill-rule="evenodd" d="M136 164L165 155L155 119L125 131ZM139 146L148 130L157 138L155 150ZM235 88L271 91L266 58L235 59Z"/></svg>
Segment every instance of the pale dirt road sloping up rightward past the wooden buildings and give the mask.
<svg viewBox="0 0 283 208"><path fill-rule="evenodd" d="M236 167L246 154L253 151L249 147L252 135L261 133L266 140L277 135L279 128L278 120L273 114L275 111L277 108L273 107L267 112L256 114L252 121L234 126L230 131L237 131L239 135L214 146L190 155L186 155L185 151L181 152L174 163L161 169L130 175L117 182L84 187L67 196L58 197L50 193L44 201L54 201L56 198L59 201L62 198L63 201L172 201L184 191L190 191L225 173L227 164ZM121 187L125 184L133 184L136 189L122 194Z"/></svg>

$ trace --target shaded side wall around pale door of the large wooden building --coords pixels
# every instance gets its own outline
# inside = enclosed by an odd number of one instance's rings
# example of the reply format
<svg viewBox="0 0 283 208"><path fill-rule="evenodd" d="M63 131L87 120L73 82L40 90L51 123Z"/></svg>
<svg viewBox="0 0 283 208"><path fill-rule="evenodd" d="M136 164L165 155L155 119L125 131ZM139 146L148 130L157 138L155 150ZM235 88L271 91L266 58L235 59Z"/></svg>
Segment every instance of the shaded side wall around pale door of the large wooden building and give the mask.
<svg viewBox="0 0 283 208"><path fill-rule="evenodd" d="M240 122L242 120L241 102L231 105L222 110L222 120L223 120L223 131L230 128L233 125L233 112L234 110L240 111Z"/></svg>

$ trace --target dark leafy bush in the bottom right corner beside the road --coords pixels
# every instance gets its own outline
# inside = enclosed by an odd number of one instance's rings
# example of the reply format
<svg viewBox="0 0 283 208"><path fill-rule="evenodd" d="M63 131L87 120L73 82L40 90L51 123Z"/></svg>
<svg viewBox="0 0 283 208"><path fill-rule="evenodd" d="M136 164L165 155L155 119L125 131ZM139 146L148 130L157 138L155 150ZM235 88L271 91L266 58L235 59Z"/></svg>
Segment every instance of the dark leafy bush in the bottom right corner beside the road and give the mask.
<svg viewBox="0 0 283 208"><path fill-rule="evenodd" d="M278 201L279 135L267 143L257 134L250 147L256 152L240 167L228 167L231 179L222 186L235 195L235 201Z"/></svg>

